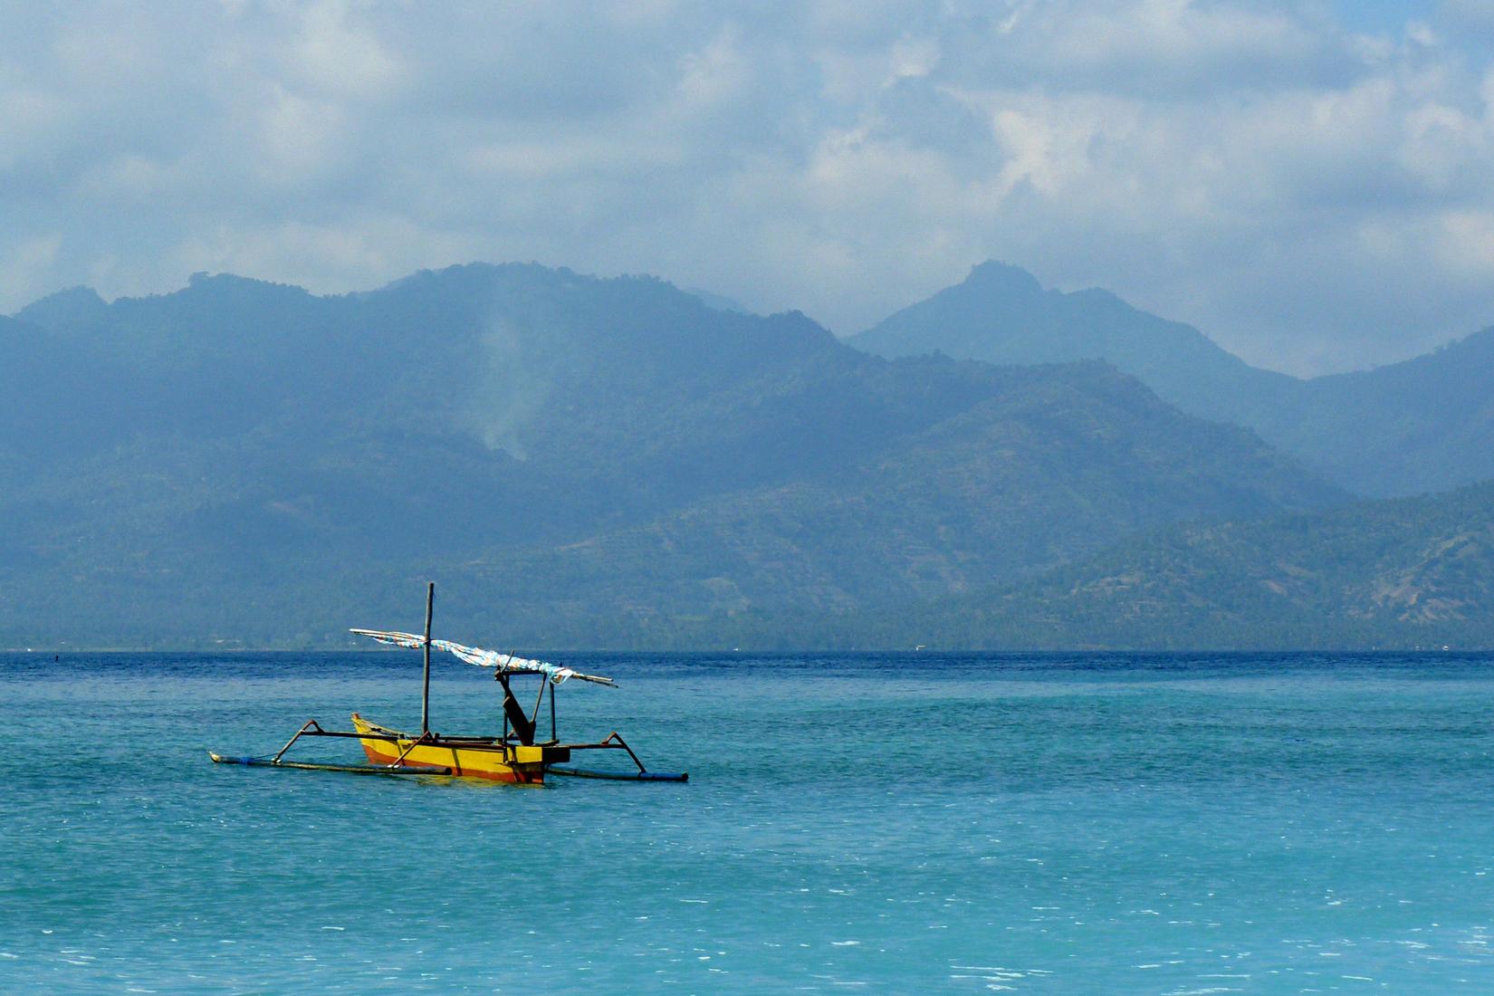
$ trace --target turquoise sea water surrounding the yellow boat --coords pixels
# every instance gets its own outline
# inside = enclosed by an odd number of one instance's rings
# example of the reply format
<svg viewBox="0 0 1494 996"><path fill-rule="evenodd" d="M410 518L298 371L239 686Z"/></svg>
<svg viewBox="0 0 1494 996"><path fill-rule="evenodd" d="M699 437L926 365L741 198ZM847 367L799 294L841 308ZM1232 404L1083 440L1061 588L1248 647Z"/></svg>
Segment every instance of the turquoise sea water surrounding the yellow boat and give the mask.
<svg viewBox="0 0 1494 996"><path fill-rule="evenodd" d="M1487 656L568 656L687 785L208 763L418 659L0 656L0 992L1494 990Z"/></svg>

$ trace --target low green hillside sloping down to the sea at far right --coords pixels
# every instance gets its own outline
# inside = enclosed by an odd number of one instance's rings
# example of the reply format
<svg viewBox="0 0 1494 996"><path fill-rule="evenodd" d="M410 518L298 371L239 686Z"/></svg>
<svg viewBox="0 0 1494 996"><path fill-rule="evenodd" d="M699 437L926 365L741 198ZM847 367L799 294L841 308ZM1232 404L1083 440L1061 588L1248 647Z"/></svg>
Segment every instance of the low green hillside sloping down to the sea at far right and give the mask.
<svg viewBox="0 0 1494 996"><path fill-rule="evenodd" d="M1174 526L1029 582L841 626L970 648L1494 647L1494 482Z"/></svg>

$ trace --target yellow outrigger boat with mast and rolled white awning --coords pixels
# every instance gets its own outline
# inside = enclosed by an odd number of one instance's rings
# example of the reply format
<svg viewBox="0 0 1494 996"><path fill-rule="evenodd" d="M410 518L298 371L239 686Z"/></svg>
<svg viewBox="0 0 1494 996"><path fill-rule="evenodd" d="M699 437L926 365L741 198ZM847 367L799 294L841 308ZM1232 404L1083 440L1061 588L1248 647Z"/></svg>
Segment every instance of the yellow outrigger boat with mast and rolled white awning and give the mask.
<svg viewBox="0 0 1494 996"><path fill-rule="evenodd" d="M327 730L317 720L308 720L296 735L275 754L260 757L230 757L212 754L218 765L248 765L251 768L291 768L300 771L341 771L359 775L447 775L454 778L484 778L487 781L541 785L545 775L569 778L608 778L617 781L689 781L687 774L654 772L644 768L627 742L616 730L595 744L562 744L556 732L556 688L575 678L598 685L617 687L611 678L584 675L571 667L562 667L542 660L527 660L512 654L499 654L481 647L465 647L445 639L430 638L430 617L435 609L436 585L426 590L426 632L400 633L394 630L350 630L381 644L423 650L426 653L424 676L420 693L420 733L402 733L376 723L369 723L353 714L351 730ZM430 650L456 654L469 664L492 667L493 678L503 687L503 733L500 736L450 736L430 730ZM512 678L538 676L539 693L535 705L524 712L509 684ZM539 714L550 700L550 739L536 741ZM285 754L297 741L308 736L332 736L357 739L368 756L368 765L321 765L287 760ZM607 771L572 768L572 751L624 751L636 771Z"/></svg>

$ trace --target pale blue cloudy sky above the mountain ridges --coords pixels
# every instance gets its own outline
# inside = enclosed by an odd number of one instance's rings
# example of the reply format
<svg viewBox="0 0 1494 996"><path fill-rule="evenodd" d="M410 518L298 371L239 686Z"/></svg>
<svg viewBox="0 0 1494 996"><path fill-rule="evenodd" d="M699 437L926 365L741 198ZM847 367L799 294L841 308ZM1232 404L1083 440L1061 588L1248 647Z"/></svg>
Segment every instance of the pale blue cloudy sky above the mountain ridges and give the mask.
<svg viewBox="0 0 1494 996"><path fill-rule="evenodd" d="M0 312L654 273L840 334L988 258L1300 375L1494 326L1494 0L0 0Z"/></svg>

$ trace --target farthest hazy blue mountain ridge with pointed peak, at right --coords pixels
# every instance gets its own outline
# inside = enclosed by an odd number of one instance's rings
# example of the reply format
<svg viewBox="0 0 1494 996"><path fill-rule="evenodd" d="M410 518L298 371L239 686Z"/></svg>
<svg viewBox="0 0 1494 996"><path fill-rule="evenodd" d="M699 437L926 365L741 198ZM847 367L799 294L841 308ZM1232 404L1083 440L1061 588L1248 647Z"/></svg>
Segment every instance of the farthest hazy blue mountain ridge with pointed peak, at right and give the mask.
<svg viewBox="0 0 1494 996"><path fill-rule="evenodd" d="M1044 290L1022 269L983 263L850 342L889 357L1103 358L1185 412L1247 426L1364 496L1494 478L1494 329L1404 363L1303 381L1252 367L1109 291Z"/></svg>

